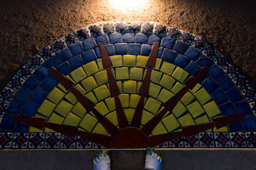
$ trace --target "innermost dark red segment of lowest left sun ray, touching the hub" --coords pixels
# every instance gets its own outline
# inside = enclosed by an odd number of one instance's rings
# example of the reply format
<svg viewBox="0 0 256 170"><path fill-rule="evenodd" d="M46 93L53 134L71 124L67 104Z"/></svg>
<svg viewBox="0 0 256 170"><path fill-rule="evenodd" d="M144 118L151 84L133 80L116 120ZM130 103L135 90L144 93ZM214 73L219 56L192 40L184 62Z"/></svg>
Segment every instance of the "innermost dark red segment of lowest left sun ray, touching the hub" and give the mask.
<svg viewBox="0 0 256 170"><path fill-rule="evenodd" d="M84 139L88 139L95 143L99 143L102 146L108 147L110 143L110 137L102 134L93 134L91 132L77 131L77 136L81 136Z"/></svg>

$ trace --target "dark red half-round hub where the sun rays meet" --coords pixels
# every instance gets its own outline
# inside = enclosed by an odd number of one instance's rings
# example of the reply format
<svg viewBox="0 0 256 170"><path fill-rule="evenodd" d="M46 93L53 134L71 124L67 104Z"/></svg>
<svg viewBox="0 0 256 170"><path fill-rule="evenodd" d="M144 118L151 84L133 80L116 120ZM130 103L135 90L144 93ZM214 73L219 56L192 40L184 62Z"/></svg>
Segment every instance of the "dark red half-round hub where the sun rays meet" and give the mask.
<svg viewBox="0 0 256 170"><path fill-rule="evenodd" d="M148 148L150 141L140 129L125 127L113 136L109 148Z"/></svg>

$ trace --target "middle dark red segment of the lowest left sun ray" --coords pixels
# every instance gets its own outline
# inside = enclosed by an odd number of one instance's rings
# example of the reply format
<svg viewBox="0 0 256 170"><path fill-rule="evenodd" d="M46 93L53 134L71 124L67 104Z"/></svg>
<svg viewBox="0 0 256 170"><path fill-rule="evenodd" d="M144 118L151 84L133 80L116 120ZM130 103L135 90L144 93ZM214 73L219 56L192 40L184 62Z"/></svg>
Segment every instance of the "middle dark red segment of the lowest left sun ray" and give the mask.
<svg viewBox="0 0 256 170"><path fill-rule="evenodd" d="M71 125L59 125L48 122L45 123L45 127L52 129L53 131L60 132L62 134L67 134L68 136L71 136L73 138L76 137L78 129L77 127Z"/></svg>

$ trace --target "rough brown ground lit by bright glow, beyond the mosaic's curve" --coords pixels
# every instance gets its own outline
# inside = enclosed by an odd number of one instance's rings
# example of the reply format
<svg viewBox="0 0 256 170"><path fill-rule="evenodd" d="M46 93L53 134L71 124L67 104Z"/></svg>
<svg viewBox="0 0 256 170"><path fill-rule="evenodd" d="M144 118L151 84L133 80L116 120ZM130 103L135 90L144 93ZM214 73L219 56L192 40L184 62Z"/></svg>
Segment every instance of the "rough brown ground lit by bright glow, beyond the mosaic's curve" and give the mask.
<svg viewBox="0 0 256 170"><path fill-rule="evenodd" d="M103 0L0 0L0 90L44 46L109 20L154 21L202 36L256 89L255 0L148 1L125 11Z"/></svg>

